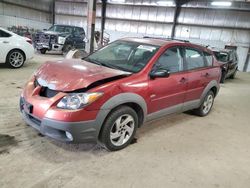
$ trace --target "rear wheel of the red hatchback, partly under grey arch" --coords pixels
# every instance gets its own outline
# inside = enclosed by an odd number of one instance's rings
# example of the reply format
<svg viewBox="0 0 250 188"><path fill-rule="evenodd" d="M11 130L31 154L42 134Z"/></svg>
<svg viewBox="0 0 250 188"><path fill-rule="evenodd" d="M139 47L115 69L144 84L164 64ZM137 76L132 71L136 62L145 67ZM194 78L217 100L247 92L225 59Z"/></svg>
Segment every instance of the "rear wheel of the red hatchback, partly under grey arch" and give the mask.
<svg viewBox="0 0 250 188"><path fill-rule="evenodd" d="M209 91L204 100L202 101L200 107L194 110L194 113L201 117L206 116L211 111L213 104L214 104L214 92Z"/></svg>

